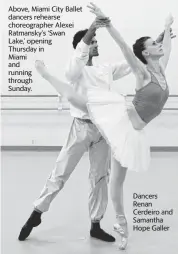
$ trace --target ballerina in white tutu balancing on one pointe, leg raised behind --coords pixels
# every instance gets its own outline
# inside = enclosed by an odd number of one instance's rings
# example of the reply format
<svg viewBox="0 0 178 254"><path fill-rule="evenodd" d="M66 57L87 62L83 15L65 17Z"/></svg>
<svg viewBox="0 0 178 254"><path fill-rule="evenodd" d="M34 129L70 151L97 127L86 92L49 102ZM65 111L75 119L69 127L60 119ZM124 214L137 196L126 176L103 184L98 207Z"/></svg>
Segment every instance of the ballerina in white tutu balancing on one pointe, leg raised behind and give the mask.
<svg viewBox="0 0 178 254"><path fill-rule="evenodd" d="M88 6L99 18L106 18L94 4ZM170 26L172 16L166 19L163 45L150 37L141 37L128 47L120 33L110 23L107 29L120 46L128 64L136 77L136 95L129 105L125 97L101 88L91 88L86 97L80 97L74 89L51 76L43 62L36 61L38 72L56 90L75 106L89 111L113 154L111 178L111 198L116 212L115 231L121 235L120 249L125 249L128 241L127 221L123 207L123 183L128 170L148 169L150 149L143 128L158 116L169 96L164 70L171 51ZM139 60L138 60L139 59Z"/></svg>

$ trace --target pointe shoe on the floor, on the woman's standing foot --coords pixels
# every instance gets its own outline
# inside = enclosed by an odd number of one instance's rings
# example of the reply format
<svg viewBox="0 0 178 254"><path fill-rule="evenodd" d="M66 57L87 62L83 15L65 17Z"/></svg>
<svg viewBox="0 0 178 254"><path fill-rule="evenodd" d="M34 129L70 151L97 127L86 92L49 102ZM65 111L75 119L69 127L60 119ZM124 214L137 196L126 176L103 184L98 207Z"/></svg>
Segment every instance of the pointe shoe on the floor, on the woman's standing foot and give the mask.
<svg viewBox="0 0 178 254"><path fill-rule="evenodd" d="M119 216L119 223L114 224L114 231L117 232L121 237L121 243L119 244L120 250L125 250L128 244L128 228L125 216Z"/></svg>

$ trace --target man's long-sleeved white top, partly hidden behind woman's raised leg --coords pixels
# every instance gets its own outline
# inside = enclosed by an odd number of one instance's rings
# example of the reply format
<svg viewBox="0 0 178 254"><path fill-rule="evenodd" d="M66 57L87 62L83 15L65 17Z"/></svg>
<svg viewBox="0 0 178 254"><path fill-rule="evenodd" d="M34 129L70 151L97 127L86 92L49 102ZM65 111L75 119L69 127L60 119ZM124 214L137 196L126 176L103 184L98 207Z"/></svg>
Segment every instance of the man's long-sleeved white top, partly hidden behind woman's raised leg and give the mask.
<svg viewBox="0 0 178 254"><path fill-rule="evenodd" d="M89 59L89 45L83 40L78 43L75 53L66 70L66 77L80 95L86 95L87 88L91 86L110 89L113 80L117 80L131 72L126 62L117 64L104 64L87 66ZM82 110L70 105L73 117L89 119L89 115Z"/></svg>

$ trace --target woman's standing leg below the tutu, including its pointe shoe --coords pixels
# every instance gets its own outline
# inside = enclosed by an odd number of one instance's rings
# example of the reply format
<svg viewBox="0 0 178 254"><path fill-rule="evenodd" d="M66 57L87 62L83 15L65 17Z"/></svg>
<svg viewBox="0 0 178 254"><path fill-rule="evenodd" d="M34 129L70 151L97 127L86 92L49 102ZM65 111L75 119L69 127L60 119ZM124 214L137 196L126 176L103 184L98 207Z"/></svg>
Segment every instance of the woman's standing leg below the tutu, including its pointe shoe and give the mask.
<svg viewBox="0 0 178 254"><path fill-rule="evenodd" d="M120 249L125 249L128 241L127 221L124 213L123 204L123 184L126 177L127 168L112 159L112 174L111 174L111 199L116 213L117 223L114 225L114 230L121 236Z"/></svg>

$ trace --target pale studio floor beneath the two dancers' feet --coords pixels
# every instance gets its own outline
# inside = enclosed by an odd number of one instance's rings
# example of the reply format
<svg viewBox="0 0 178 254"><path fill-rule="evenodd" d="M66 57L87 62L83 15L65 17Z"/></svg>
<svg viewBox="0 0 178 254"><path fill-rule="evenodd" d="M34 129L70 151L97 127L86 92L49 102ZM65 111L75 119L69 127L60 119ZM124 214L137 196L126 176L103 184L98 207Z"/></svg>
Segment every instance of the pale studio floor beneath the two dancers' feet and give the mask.
<svg viewBox="0 0 178 254"><path fill-rule="evenodd" d="M56 152L2 153L2 254L112 254L120 253L117 243L103 243L89 238L88 157L85 155L50 210L42 217L28 240L19 242L20 229L53 168ZM125 182L125 210L130 229L128 254L178 253L178 153L154 153L150 170L143 174L129 172ZM132 231L132 195L134 192L158 194L155 209L174 209L165 217L168 232ZM111 201L102 227L112 231L114 212Z"/></svg>

